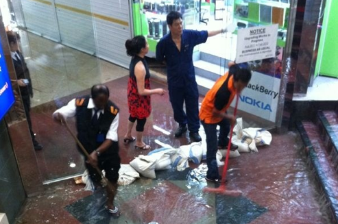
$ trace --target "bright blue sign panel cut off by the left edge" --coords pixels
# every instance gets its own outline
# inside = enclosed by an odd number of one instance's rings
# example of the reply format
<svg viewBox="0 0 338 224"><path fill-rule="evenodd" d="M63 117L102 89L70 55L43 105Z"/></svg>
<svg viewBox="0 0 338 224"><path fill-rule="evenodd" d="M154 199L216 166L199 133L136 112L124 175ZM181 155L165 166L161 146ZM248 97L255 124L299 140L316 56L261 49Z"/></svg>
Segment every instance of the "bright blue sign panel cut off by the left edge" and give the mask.
<svg viewBox="0 0 338 224"><path fill-rule="evenodd" d="M3 116L5 116L13 104L14 95L12 84L8 75L3 49L0 44L0 120L3 119Z"/></svg>

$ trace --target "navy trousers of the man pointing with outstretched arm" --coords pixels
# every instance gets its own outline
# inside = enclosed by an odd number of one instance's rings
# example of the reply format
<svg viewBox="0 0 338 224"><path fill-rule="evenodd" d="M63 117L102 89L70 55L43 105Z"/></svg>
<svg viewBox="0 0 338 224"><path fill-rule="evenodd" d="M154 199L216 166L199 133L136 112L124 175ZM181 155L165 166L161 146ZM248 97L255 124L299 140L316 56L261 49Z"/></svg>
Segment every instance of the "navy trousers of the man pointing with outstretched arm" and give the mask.
<svg viewBox="0 0 338 224"><path fill-rule="evenodd" d="M173 119L180 125L188 124L190 132L198 132L200 119L198 117L198 89L197 84L175 87L169 84L169 98L173 107ZM183 110L185 102L186 113Z"/></svg>

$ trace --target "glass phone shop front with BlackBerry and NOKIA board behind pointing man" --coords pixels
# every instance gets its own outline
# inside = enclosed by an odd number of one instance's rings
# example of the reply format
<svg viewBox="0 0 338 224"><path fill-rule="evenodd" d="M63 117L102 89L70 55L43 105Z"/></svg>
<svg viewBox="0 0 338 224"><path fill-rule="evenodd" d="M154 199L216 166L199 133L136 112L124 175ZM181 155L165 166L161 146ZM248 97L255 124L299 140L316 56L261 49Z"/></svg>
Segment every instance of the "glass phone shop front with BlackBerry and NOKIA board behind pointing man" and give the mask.
<svg viewBox="0 0 338 224"><path fill-rule="evenodd" d="M275 55L248 61L252 81L240 97L239 109L247 125L274 127L278 107L283 51L287 38L289 1L214 0L214 1L133 1L134 35L144 35L149 42L149 57L155 56L156 45L169 32L165 18L171 10L182 14L184 29L213 30L231 23L232 33L208 38L195 47L194 65L200 94L204 95L220 75L228 71L228 62L237 55L239 29L278 25ZM207 69L206 69L207 68ZM208 83L208 84L206 84Z"/></svg>

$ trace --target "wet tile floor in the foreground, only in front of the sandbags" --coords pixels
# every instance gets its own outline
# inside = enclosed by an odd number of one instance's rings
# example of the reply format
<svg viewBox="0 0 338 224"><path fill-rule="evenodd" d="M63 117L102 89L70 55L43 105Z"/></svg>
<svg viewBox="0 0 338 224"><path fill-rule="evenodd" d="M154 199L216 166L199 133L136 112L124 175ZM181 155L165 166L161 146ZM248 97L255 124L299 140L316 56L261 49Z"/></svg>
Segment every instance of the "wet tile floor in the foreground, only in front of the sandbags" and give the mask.
<svg viewBox="0 0 338 224"><path fill-rule="evenodd" d="M122 212L119 219L110 217L104 208L106 192L98 188L93 194L50 190L30 198L20 220L62 224L330 223L298 142L293 133L275 135L271 145L258 153L230 159L226 188L243 191L241 197L204 193L205 186L217 186L205 181L205 165L191 164L182 172L157 171L156 179L142 177L129 186L120 186L116 197ZM47 209L46 204L53 204L53 209Z"/></svg>

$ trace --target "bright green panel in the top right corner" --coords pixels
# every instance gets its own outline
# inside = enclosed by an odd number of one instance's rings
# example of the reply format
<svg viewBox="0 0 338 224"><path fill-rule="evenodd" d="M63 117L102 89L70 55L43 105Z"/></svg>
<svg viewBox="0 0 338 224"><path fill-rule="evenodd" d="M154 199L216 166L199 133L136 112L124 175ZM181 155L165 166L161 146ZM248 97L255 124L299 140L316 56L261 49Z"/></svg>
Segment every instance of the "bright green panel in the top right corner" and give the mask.
<svg viewBox="0 0 338 224"><path fill-rule="evenodd" d="M315 76L338 77L338 1L327 0L319 42Z"/></svg>

